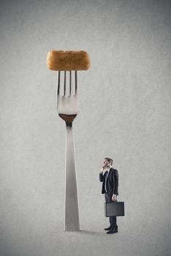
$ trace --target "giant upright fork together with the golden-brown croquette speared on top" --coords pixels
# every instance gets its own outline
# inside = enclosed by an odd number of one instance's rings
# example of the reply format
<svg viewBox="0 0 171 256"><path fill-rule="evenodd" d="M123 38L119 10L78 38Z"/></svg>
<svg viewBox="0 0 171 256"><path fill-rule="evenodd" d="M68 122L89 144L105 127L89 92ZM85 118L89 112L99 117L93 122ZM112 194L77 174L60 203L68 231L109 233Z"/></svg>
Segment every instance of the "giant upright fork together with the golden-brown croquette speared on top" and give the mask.
<svg viewBox="0 0 171 256"><path fill-rule="evenodd" d="M77 231L80 229L80 224L72 122L78 113L77 70L88 70L90 67L90 57L85 50L50 50L47 53L47 67L50 70L58 71L57 111L58 116L64 119L66 123L64 230ZM74 80L73 83L72 80Z"/></svg>

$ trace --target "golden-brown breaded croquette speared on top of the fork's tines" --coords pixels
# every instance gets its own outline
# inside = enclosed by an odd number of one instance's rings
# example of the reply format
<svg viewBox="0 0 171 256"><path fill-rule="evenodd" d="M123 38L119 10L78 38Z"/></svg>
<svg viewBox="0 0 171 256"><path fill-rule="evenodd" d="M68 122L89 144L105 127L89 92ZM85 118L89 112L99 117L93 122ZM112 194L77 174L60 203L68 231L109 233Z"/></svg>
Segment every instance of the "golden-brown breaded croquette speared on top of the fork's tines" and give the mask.
<svg viewBox="0 0 171 256"><path fill-rule="evenodd" d="M51 70L87 70L90 57L85 50L50 50L47 67Z"/></svg>

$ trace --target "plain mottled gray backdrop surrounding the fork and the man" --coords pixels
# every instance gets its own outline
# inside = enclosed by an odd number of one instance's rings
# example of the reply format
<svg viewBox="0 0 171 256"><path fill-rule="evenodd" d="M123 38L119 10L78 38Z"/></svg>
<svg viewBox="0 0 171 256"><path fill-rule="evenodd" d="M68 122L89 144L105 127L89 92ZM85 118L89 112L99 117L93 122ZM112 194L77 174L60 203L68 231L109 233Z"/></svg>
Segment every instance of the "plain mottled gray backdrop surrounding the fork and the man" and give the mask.
<svg viewBox="0 0 171 256"><path fill-rule="evenodd" d="M170 1L1 1L1 256L170 255ZM74 123L78 233L64 233L65 124L47 51L87 50ZM104 232L113 157L126 215Z"/></svg>

